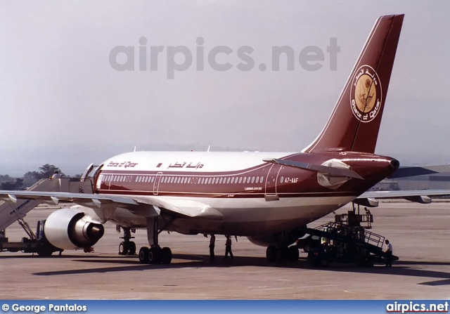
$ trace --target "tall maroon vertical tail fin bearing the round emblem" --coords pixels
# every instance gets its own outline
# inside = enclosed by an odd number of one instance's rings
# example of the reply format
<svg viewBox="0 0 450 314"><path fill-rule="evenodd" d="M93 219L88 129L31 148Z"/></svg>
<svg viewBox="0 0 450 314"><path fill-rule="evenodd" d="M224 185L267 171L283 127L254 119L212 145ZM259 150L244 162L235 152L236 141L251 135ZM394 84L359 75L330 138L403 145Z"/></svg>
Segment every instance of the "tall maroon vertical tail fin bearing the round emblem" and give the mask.
<svg viewBox="0 0 450 314"><path fill-rule="evenodd" d="M304 152L375 151L403 18L375 22L326 126Z"/></svg>

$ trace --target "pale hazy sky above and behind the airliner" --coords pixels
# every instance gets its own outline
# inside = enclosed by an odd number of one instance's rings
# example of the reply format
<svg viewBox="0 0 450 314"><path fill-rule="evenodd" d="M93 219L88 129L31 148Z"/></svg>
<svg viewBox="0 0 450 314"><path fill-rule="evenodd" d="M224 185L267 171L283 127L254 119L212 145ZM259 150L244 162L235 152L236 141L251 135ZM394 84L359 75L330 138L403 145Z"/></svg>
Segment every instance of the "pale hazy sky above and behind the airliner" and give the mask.
<svg viewBox="0 0 450 314"><path fill-rule="evenodd" d="M44 163L80 174L135 146L300 151L326 123L376 18L398 13L376 152L404 165L450 162L449 1L0 1L0 174ZM110 64L117 46L134 50L134 63L115 58L134 70ZM162 46L158 70L151 46ZM208 61L218 46L231 50L217 55L230 70ZM248 71L238 68L245 46ZM293 49L293 71L284 59L272 70L272 46ZM300 65L307 46L323 51L320 70Z"/></svg>

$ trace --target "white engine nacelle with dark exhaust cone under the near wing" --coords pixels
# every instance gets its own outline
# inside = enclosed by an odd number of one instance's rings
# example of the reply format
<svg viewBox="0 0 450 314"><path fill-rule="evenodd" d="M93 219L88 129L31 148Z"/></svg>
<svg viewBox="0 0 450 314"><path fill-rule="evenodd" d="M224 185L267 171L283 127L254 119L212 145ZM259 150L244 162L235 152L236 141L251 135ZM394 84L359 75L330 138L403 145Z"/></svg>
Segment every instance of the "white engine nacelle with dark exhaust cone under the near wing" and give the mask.
<svg viewBox="0 0 450 314"><path fill-rule="evenodd" d="M44 225L47 240L58 249L85 249L103 237L101 223L81 211L82 207L58 209L50 214Z"/></svg>

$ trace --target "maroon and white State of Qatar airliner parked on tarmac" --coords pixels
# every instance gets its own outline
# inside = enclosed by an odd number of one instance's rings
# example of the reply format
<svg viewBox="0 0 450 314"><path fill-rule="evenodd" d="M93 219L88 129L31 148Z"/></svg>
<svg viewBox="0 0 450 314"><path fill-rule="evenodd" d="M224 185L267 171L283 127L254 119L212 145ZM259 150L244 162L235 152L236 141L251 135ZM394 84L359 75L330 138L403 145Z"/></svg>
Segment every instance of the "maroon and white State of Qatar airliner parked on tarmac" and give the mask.
<svg viewBox="0 0 450 314"><path fill-rule="evenodd" d="M301 152L128 152L103 162L84 193L0 191L2 199L73 202L46 219L46 239L59 249L89 249L103 223L125 231L120 251L134 252L129 230L145 228L141 263L171 263L162 231L244 236L266 257L298 259L289 247L307 224L330 214L399 168L375 155L404 15L376 20L319 136ZM362 198L364 200L364 198Z"/></svg>

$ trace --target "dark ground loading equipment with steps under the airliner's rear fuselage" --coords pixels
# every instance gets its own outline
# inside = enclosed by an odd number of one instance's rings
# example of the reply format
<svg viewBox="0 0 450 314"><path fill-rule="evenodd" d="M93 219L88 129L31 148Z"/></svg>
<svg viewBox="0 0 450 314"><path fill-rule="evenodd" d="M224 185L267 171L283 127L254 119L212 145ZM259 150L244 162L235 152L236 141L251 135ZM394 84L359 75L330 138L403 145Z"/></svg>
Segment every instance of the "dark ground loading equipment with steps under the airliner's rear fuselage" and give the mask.
<svg viewBox="0 0 450 314"><path fill-rule="evenodd" d="M366 223L365 226L361 223ZM375 263L386 263L386 259L397 261L397 256L388 257L383 251L385 237L372 233L373 216L366 214L335 215L335 221L307 229L308 237L297 242L297 247L308 252L308 260L313 266L326 267L330 263L356 263L357 266L371 267Z"/></svg>

